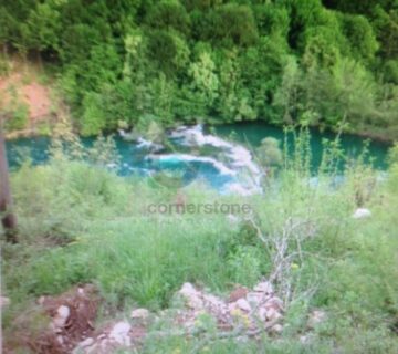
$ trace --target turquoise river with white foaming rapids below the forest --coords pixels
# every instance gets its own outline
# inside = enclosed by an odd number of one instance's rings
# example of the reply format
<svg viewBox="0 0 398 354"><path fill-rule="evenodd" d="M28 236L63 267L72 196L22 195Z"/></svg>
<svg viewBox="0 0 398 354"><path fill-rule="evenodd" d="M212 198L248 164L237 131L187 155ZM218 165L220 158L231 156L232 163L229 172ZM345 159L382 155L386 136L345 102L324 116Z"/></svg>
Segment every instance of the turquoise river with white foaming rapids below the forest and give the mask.
<svg viewBox="0 0 398 354"><path fill-rule="evenodd" d="M170 132L167 148L158 149L156 145L140 139L128 142L115 136L117 152L121 156L117 165L111 164L122 176L150 177L154 174L167 173L178 175L184 184L201 180L221 192L252 194L259 190L261 168L255 164L253 154L264 137L274 137L284 142L282 128L261 122L234 125L220 125L213 128L191 126ZM313 169L321 162L323 139L334 139L332 133L311 132L311 150ZM83 138L90 148L94 138ZM365 139L342 135L342 148L348 156L358 156ZM33 164L48 160L50 139L48 137L20 138L7 142L9 164L17 169L21 162L29 157ZM375 168L386 168L386 156L389 146L370 142L368 149Z"/></svg>

